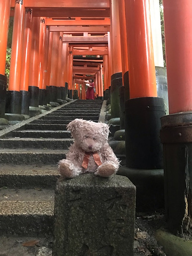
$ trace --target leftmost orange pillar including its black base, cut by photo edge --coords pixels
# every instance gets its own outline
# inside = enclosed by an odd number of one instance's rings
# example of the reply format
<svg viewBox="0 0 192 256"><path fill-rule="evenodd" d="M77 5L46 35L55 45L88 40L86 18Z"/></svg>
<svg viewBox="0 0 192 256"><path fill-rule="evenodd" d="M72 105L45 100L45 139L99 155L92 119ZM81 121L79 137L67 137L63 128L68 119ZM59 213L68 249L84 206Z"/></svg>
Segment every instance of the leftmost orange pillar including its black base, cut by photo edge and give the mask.
<svg viewBox="0 0 192 256"><path fill-rule="evenodd" d="M0 119L5 117L5 98L7 86L5 76L5 61L10 7L11 0L0 1Z"/></svg>

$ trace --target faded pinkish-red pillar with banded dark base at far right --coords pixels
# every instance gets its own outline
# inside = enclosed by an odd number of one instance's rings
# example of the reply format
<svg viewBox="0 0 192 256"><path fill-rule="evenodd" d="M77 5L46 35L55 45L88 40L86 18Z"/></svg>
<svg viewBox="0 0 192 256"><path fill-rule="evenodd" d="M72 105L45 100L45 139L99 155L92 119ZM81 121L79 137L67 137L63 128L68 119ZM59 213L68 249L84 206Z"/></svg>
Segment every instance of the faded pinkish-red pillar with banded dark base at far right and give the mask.
<svg viewBox="0 0 192 256"><path fill-rule="evenodd" d="M192 227L192 2L163 1L170 115L162 117L165 209L169 231Z"/></svg>

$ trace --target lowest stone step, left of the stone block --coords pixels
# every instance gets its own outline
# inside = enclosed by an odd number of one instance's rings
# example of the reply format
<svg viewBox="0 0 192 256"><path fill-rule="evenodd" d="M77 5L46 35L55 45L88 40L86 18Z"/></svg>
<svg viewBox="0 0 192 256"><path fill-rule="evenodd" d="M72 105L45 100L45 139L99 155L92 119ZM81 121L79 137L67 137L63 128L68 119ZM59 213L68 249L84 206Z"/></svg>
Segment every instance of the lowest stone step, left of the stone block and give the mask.
<svg viewBox="0 0 192 256"><path fill-rule="evenodd" d="M31 197L19 199L19 194L13 198L0 200L0 235L25 235L43 236L51 235L53 230L53 211L54 211L54 190L47 192L42 190L41 195L36 190L30 191ZM1 191L2 193L2 191ZM6 193L3 191L3 194ZM15 194L9 191L7 196ZM36 194L36 195L35 195ZM50 198L44 200L44 194ZM25 194L23 195L25 196Z"/></svg>

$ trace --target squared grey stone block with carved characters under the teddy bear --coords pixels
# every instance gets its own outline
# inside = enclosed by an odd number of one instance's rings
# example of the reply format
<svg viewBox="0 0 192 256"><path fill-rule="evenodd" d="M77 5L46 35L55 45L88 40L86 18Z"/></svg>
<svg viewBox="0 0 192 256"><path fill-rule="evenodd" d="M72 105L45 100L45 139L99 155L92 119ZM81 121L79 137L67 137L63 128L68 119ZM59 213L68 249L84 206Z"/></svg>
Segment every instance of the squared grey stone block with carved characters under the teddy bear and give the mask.
<svg viewBox="0 0 192 256"><path fill-rule="evenodd" d="M133 256L135 187L123 176L57 182L53 256Z"/></svg>

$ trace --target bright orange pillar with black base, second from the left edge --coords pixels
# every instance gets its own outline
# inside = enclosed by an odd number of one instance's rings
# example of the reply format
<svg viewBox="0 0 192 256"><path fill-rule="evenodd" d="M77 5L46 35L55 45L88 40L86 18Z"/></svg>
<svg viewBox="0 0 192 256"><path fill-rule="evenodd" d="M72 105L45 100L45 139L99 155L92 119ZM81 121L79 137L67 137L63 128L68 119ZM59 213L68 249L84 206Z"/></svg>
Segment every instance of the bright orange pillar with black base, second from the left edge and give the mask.
<svg viewBox="0 0 192 256"><path fill-rule="evenodd" d="M25 1L24 1L25 2ZM11 65L9 77L9 91L6 95L6 113L21 114L21 58L22 58L22 35L23 21L25 17L23 1L15 1L13 35L11 46Z"/></svg>

